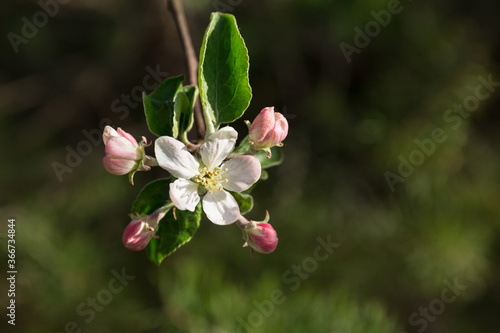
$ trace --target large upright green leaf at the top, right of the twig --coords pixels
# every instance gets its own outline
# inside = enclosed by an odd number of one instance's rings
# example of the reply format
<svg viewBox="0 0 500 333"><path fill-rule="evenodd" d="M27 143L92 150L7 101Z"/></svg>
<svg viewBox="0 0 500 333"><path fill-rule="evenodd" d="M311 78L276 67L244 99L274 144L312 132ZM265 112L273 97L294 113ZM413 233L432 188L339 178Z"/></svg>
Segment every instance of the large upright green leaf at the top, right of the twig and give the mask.
<svg viewBox="0 0 500 333"><path fill-rule="evenodd" d="M231 14L212 13L200 50L200 98L207 129L243 115L250 105L248 50ZM210 131L208 131L210 132Z"/></svg>

